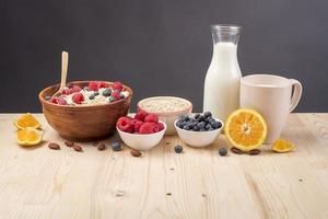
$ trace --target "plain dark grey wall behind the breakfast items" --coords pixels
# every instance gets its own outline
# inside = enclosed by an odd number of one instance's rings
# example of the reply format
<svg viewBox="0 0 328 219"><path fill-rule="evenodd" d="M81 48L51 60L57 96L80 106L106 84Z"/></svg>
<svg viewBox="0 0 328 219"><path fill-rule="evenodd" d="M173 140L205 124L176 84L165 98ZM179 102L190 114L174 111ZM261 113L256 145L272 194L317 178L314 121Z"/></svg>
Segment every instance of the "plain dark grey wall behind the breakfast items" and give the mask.
<svg viewBox="0 0 328 219"><path fill-rule="evenodd" d="M277 73L304 85L297 112L328 112L328 1L2 0L0 112L39 112L37 93L60 80L120 80L137 101L186 97L201 111L212 55L209 25L244 27L244 74Z"/></svg>

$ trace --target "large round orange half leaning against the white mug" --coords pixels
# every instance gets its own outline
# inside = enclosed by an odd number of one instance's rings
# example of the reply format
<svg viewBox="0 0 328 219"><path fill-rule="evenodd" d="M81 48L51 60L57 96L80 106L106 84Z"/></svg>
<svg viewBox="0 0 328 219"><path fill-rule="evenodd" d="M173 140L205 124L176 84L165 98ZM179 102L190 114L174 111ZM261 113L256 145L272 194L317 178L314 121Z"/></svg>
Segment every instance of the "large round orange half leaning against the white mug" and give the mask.
<svg viewBox="0 0 328 219"><path fill-rule="evenodd" d="M224 131L234 147L249 151L263 143L268 128L265 118L258 112L239 108L229 115Z"/></svg>

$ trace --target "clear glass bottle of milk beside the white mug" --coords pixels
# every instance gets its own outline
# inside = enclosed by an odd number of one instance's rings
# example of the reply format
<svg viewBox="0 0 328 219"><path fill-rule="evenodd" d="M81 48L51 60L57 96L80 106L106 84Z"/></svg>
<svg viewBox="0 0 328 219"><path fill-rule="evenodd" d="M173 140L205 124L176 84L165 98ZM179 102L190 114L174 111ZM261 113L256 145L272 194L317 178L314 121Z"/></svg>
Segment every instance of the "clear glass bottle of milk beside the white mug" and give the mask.
<svg viewBox="0 0 328 219"><path fill-rule="evenodd" d="M237 60L237 44L241 26L212 25L213 56L208 69L203 112L225 120L227 115L239 107L239 81L242 78Z"/></svg>

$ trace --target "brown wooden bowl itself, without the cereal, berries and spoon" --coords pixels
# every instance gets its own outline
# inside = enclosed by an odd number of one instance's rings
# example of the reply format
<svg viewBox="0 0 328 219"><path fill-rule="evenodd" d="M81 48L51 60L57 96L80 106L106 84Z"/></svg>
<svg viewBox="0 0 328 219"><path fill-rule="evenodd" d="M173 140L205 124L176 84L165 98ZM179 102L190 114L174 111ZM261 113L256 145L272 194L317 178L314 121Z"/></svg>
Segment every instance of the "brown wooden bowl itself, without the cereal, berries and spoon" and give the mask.
<svg viewBox="0 0 328 219"><path fill-rule="evenodd" d="M83 88L89 81L73 81L70 84ZM58 89L59 84L48 87L39 92L38 97L49 125L60 136L73 141L93 141L113 135L117 119L129 113L133 95L132 90L124 85L129 92L127 99L102 105L58 105L46 101L46 96L51 96Z"/></svg>

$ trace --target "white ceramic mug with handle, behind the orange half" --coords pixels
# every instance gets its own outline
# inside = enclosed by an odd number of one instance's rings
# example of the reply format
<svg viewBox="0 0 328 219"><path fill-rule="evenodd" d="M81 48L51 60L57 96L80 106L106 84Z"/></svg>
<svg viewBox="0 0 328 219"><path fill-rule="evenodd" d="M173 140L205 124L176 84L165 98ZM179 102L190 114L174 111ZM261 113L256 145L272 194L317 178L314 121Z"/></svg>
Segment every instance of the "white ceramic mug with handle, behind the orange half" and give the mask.
<svg viewBox="0 0 328 219"><path fill-rule="evenodd" d="M301 96L302 84L295 79L272 74L250 74L241 79L241 107L259 112L268 124L265 143L279 138Z"/></svg>

